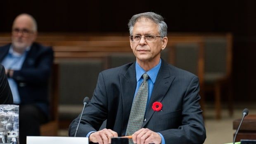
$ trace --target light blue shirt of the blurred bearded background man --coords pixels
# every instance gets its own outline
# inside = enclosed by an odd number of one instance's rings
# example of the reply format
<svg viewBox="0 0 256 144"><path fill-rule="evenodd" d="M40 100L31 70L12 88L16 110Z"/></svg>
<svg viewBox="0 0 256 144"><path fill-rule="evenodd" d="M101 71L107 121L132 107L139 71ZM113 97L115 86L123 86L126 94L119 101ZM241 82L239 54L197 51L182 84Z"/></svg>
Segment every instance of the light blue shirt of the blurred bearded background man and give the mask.
<svg viewBox="0 0 256 144"><path fill-rule="evenodd" d="M22 64L24 63L24 60L26 59L26 55L29 50L30 50L30 47L27 47L26 52L24 52L23 54L19 54L15 52L13 50L13 47L11 46L8 54L2 61L2 65L5 67L5 69L11 69L14 71L20 70L22 67ZM8 83L12 91L13 103L20 104L20 97L19 97L17 83L12 78L8 78Z"/></svg>

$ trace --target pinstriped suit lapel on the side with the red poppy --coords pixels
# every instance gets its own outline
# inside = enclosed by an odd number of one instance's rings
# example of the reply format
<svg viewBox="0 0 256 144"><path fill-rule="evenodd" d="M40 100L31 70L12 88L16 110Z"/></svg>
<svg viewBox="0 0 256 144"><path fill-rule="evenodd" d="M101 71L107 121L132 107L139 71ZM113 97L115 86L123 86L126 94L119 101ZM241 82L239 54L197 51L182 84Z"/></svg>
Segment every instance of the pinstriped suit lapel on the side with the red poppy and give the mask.
<svg viewBox="0 0 256 144"><path fill-rule="evenodd" d="M169 87L171 86L171 83L173 82L174 78L175 76L170 75L168 64L162 60L161 68L156 77L156 82L154 84L149 105L147 106L146 115L145 115L146 121L142 124L142 127L144 127L147 124L149 119L154 114L154 111L152 109L152 104L154 102L162 101L162 99L166 95L166 92L169 90Z"/></svg>

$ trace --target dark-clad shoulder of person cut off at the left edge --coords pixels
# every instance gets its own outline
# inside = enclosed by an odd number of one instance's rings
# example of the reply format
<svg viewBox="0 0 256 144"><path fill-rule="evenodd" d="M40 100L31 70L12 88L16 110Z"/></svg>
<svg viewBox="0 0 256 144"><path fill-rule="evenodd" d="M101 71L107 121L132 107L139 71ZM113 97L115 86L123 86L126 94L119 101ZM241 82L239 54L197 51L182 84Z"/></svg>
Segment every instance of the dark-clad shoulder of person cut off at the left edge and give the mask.
<svg viewBox="0 0 256 144"><path fill-rule="evenodd" d="M0 104L12 104L12 92L7 81L5 68L0 65Z"/></svg>

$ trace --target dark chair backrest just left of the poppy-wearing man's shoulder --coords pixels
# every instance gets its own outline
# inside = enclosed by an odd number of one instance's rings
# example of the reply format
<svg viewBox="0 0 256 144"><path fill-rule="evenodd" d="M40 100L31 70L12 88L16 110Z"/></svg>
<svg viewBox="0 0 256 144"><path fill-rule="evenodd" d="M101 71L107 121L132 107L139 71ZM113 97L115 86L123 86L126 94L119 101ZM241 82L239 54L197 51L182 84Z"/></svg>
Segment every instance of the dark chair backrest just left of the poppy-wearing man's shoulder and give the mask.
<svg viewBox="0 0 256 144"><path fill-rule="evenodd" d="M85 96L92 98L102 59L62 59L59 61L60 104L82 105Z"/></svg>

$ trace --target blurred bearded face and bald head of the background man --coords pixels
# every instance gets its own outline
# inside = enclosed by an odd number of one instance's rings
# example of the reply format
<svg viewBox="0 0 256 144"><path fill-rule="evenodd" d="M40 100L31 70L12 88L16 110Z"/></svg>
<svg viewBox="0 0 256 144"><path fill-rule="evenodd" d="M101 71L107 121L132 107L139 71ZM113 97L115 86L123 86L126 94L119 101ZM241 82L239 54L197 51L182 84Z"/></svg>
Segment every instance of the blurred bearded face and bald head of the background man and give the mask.
<svg viewBox="0 0 256 144"><path fill-rule="evenodd" d="M15 19L12 26L12 45L14 50L24 51L36 39L33 22L29 17L21 16Z"/></svg>

